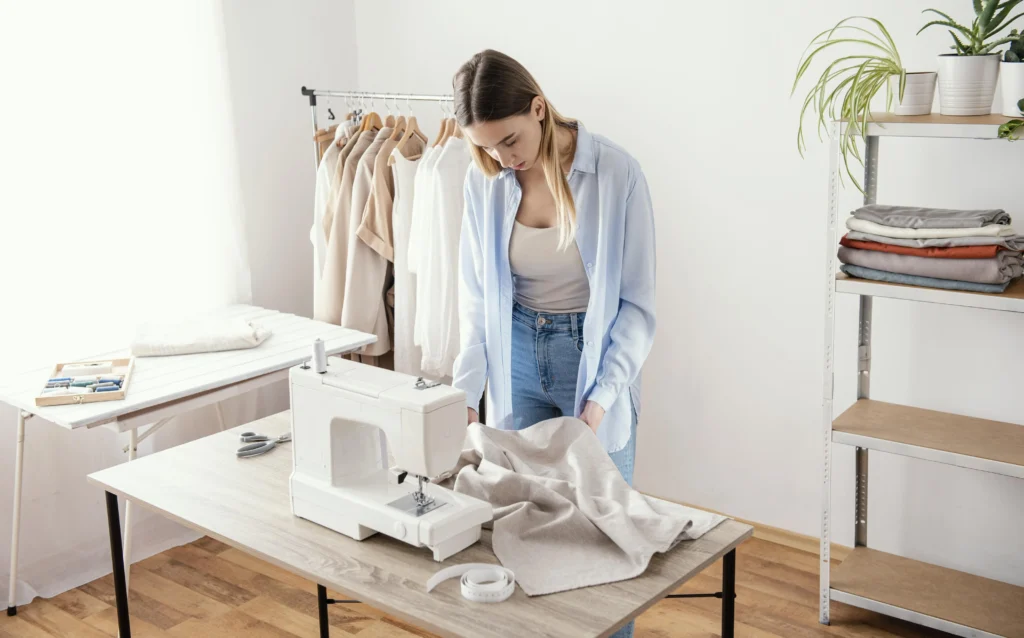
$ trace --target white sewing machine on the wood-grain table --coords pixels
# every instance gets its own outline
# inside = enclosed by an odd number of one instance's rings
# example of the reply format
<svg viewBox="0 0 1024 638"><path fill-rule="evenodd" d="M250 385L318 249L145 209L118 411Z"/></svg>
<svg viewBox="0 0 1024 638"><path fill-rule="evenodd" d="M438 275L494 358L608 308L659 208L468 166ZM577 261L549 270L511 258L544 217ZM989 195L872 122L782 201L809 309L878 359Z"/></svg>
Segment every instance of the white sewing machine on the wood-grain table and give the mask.
<svg viewBox="0 0 1024 638"><path fill-rule="evenodd" d="M478 541L490 505L429 482L459 460L465 393L341 358L326 370L290 373L292 512L358 541L379 531L429 547L438 561Z"/></svg>

